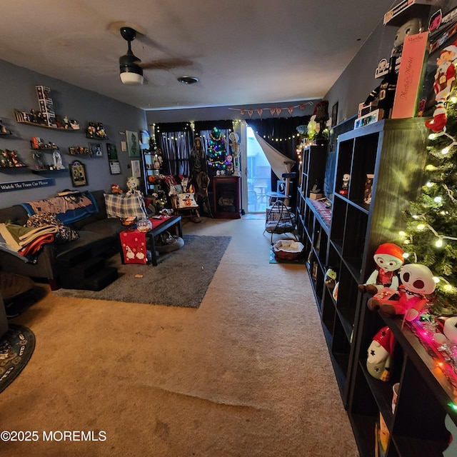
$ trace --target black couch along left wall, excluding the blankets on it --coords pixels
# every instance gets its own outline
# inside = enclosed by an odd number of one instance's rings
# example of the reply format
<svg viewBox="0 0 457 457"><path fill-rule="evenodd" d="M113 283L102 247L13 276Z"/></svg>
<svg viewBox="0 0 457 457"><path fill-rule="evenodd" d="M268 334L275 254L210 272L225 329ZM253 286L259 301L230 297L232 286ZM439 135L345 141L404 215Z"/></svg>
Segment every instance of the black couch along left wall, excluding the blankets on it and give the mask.
<svg viewBox="0 0 457 457"><path fill-rule="evenodd" d="M98 214L90 214L80 221L69 224L75 229L79 238L69 243L47 243L36 256L35 263L26 263L10 253L0 251L0 270L21 274L30 278L46 279L51 288L59 288L61 268L66 263L71 265L71 259L76 253L86 256L88 249L91 256L107 256L119 246L118 235L125 229L120 219L106 216L104 191L91 191L99 207ZM24 226L29 218L23 206L14 205L0 209L0 222L10 221L12 224Z"/></svg>

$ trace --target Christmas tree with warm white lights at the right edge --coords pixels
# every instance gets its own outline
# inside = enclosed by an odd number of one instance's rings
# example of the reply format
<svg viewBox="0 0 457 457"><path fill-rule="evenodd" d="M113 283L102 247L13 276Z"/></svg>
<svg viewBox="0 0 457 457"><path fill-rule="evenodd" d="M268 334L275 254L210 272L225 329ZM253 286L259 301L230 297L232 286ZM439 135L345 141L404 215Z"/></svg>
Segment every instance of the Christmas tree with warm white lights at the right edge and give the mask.
<svg viewBox="0 0 457 457"><path fill-rule="evenodd" d="M405 212L401 232L408 261L423 263L436 281L431 311L457 315L457 104L449 99L443 131L428 136L421 193Z"/></svg>

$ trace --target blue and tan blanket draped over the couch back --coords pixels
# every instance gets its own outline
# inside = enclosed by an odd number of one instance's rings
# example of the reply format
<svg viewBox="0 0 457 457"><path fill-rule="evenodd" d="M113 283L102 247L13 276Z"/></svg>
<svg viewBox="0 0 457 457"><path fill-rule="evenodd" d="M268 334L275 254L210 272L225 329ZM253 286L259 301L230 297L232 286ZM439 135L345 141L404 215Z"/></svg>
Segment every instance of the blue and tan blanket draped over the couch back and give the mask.
<svg viewBox="0 0 457 457"><path fill-rule="evenodd" d="M71 224L91 214L100 212L94 196L89 191L81 193L74 198L56 196L51 197L51 199L29 201L20 205L27 211L29 216L48 212L55 214L56 218L64 224Z"/></svg>

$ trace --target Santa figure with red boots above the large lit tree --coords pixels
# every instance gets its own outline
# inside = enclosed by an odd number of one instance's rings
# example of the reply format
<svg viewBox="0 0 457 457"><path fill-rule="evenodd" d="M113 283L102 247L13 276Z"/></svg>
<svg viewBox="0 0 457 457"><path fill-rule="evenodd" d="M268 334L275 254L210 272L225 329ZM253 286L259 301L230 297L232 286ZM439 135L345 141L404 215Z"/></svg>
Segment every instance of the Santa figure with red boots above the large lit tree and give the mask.
<svg viewBox="0 0 457 457"><path fill-rule="evenodd" d="M456 81L457 41L446 46L436 59L436 69L433 91L435 91L436 108L433 112L433 119L426 121L426 127L434 132L443 130L448 120L446 115L446 101Z"/></svg>

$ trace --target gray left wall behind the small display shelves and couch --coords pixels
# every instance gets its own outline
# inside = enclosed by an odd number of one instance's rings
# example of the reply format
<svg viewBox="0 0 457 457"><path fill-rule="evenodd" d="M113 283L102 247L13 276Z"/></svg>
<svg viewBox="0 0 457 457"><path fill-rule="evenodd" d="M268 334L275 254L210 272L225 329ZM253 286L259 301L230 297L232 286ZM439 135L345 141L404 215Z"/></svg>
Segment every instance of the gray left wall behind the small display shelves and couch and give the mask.
<svg viewBox="0 0 457 457"><path fill-rule="evenodd" d="M32 108L39 111L38 99L35 86L47 86L51 89L51 98L54 101L54 111L61 118L67 115L69 119L79 121L79 131L59 131L45 129L39 126L18 124L14 116L14 109L30 111ZM146 129L146 114L143 110L134 108L127 104L120 103L101 96L91 91L86 91L63 81L49 78L34 71L14 66L5 61L0 61L0 87L1 105L0 119L3 124L13 132L13 136L0 136L0 149L17 151L21 159L34 167L34 160L31 155L30 140L32 136L39 136L45 143L52 141L59 146L64 166L71 161L81 159L86 165L88 186L74 188L71 184L69 171L61 171L52 174L32 174L31 169L1 169L0 184L16 181L33 181L41 178L55 179L55 186L38 187L33 190L21 189L17 191L0 192L1 206L46 199L55 196L57 192L64 189L96 190L104 189L111 191L111 184L119 184L126 189L126 180L130 174L129 156L121 152L121 141L125 141L125 135L119 134L125 130L139 131ZM91 158L90 156L70 156L69 146L88 146L90 139L86 139L86 126L89 121L101 122L104 124L109 140L99 141L104 149L102 158ZM116 144L119 161L121 162L121 174L111 175L109 172L108 156L106 154L106 143ZM52 154L46 159L52 163Z"/></svg>

